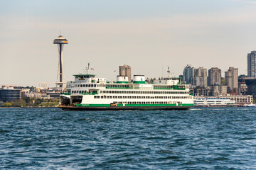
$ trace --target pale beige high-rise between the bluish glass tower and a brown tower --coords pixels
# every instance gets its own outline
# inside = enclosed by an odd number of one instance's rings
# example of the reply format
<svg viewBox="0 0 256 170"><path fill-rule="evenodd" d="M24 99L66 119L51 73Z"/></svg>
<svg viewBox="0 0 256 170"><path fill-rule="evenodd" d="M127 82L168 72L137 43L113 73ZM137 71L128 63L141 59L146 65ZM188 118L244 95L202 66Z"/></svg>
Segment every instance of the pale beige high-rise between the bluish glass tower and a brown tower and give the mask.
<svg viewBox="0 0 256 170"><path fill-rule="evenodd" d="M194 86L207 86L207 69L199 67L196 69L196 75L193 81Z"/></svg>

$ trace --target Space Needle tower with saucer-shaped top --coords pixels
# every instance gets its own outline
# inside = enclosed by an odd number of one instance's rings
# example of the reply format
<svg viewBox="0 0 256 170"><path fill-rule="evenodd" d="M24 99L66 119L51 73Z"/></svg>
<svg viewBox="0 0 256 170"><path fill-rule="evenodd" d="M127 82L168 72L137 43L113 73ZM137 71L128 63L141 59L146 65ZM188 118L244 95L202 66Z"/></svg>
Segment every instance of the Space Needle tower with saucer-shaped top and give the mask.
<svg viewBox="0 0 256 170"><path fill-rule="evenodd" d="M63 47L65 44L68 44L68 40L64 39L62 35L58 36L57 39L53 40L53 44L58 45L58 53L59 53L59 60L58 60L58 74L57 74L57 81L56 86L61 88L61 91L63 91L63 88L65 86L64 82L64 74L63 74Z"/></svg>

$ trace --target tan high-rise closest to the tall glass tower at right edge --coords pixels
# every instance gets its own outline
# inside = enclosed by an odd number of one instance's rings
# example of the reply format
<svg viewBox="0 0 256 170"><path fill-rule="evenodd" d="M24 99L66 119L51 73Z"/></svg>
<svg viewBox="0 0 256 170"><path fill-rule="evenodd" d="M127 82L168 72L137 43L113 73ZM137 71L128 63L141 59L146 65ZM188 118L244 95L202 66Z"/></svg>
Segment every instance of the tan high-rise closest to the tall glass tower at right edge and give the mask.
<svg viewBox="0 0 256 170"><path fill-rule="evenodd" d="M230 67L225 72L225 84L230 91L238 92L238 68Z"/></svg>

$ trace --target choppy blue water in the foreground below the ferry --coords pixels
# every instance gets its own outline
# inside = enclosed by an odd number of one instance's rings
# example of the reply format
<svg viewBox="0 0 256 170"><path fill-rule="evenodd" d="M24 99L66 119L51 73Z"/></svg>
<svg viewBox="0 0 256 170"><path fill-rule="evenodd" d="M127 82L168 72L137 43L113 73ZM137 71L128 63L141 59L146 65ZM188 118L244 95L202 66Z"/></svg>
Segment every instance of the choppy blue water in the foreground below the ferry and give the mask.
<svg viewBox="0 0 256 170"><path fill-rule="evenodd" d="M0 109L0 169L256 169L256 108Z"/></svg>

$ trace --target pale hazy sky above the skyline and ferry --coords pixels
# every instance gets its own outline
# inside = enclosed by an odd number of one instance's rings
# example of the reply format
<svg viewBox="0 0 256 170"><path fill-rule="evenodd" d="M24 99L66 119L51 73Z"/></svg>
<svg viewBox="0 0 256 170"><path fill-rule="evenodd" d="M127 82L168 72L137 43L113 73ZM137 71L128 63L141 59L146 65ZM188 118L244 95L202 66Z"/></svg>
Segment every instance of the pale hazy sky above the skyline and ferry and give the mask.
<svg viewBox="0 0 256 170"><path fill-rule="evenodd" d="M119 65L158 78L192 67L247 74L256 50L256 0L0 0L0 85L55 86L58 35L65 81L91 74L115 80ZM116 72L114 72L117 70Z"/></svg>

